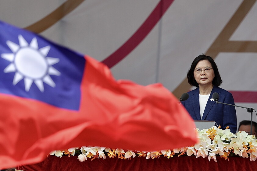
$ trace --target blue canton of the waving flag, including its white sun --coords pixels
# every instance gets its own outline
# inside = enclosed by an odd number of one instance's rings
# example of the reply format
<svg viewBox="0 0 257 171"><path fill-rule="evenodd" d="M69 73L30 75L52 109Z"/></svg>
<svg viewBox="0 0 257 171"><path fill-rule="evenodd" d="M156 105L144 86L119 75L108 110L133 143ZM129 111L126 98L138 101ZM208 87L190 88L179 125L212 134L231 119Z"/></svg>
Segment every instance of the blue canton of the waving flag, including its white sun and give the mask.
<svg viewBox="0 0 257 171"><path fill-rule="evenodd" d="M84 55L0 21L0 92L79 110Z"/></svg>

